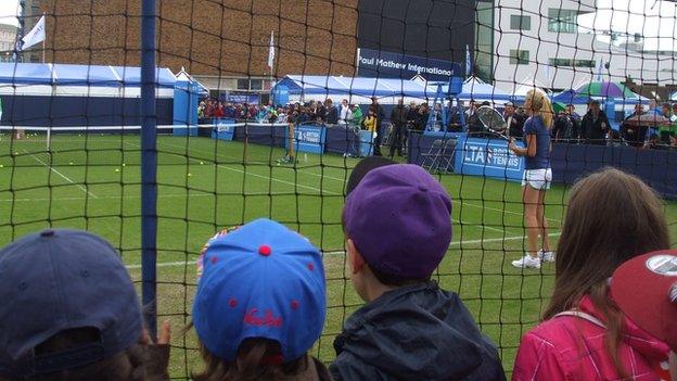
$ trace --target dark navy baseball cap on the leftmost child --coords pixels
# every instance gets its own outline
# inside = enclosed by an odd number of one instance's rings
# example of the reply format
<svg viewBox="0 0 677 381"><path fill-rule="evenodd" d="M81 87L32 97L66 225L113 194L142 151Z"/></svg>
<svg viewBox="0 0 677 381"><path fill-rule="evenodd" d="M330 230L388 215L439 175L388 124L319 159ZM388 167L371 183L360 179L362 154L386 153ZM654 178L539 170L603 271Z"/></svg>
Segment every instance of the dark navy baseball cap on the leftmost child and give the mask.
<svg viewBox="0 0 677 381"><path fill-rule="evenodd" d="M108 242L77 230L44 230L0 249L0 377L82 367L126 351L142 333L141 307L127 269ZM77 328L99 341L37 354Z"/></svg>

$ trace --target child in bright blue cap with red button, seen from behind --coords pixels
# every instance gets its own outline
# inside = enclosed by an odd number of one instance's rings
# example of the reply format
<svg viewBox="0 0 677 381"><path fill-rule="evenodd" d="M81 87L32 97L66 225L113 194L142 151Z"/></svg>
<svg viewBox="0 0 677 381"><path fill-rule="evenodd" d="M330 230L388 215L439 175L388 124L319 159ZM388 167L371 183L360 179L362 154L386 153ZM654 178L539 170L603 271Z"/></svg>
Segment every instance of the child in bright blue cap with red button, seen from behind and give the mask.
<svg viewBox="0 0 677 381"><path fill-rule="evenodd" d="M269 219L217 234L202 258L193 326L206 380L329 380L308 355L327 314L320 252Z"/></svg>

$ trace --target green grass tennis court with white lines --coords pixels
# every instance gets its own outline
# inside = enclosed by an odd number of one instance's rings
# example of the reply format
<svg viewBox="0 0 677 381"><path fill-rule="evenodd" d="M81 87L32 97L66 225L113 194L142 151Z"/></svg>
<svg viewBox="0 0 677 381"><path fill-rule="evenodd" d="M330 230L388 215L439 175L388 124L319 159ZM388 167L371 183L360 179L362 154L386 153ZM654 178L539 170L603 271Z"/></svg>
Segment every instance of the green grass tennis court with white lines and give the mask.
<svg viewBox="0 0 677 381"><path fill-rule="evenodd" d="M88 229L118 247L140 280L140 138L58 135L51 155L43 136L1 138L0 244L49 226ZM171 376L186 378L200 364L193 333L181 329L190 321L202 245L222 227L264 216L298 229L324 252L329 309L315 354L331 361L334 335L361 305L345 269L341 229L345 182L357 160L302 153L296 166L278 166L282 149L197 137L161 136L157 148L158 313L173 320ZM454 199L455 224L438 280L460 293L510 370L520 336L551 293L553 265L524 272L510 265L524 251L519 183L438 178ZM564 187L548 192L553 243L565 202ZM675 242L677 203L666 203L665 213Z"/></svg>

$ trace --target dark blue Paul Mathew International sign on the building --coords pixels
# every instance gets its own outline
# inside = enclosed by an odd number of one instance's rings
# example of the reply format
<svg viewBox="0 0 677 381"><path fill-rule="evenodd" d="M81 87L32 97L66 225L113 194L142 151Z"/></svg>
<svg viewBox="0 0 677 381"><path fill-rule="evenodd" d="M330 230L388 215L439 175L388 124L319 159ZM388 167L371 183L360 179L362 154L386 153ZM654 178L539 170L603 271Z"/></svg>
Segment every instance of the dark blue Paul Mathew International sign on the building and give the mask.
<svg viewBox="0 0 677 381"><path fill-rule="evenodd" d="M411 79L421 75L427 80L448 82L462 76L461 64L418 55L358 49L358 76Z"/></svg>

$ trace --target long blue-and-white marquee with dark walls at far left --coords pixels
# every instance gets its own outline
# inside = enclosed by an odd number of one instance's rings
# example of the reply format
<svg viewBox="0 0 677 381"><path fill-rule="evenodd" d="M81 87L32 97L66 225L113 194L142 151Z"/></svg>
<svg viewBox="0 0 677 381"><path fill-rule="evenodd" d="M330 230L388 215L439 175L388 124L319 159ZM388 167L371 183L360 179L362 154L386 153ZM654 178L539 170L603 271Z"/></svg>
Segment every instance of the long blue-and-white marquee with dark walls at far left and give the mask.
<svg viewBox="0 0 677 381"><path fill-rule="evenodd" d="M173 123L176 77L157 68L158 124ZM1 125L140 125L139 67L0 63Z"/></svg>

